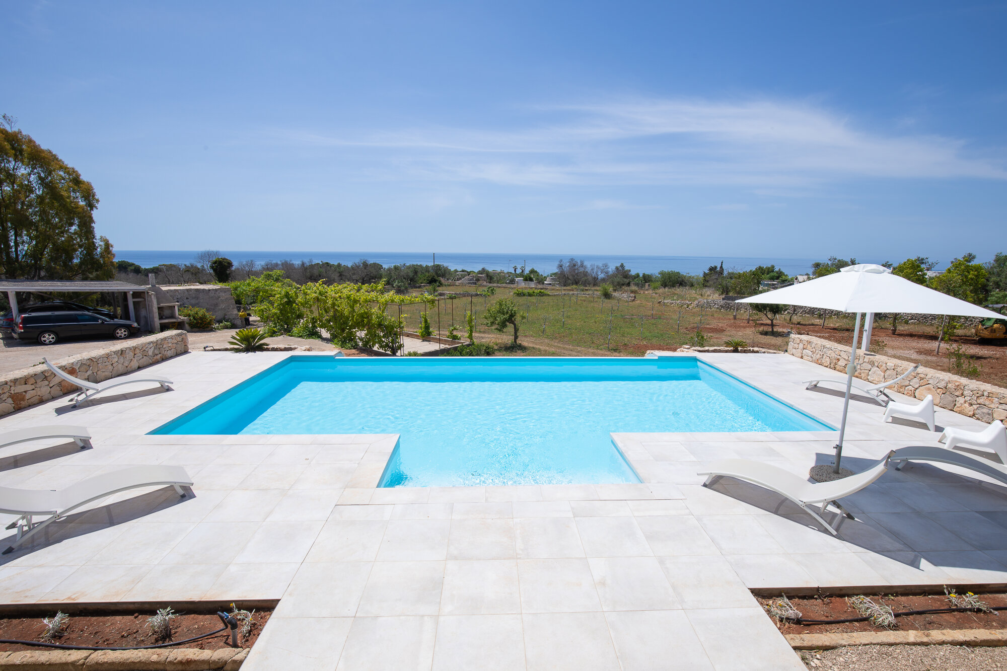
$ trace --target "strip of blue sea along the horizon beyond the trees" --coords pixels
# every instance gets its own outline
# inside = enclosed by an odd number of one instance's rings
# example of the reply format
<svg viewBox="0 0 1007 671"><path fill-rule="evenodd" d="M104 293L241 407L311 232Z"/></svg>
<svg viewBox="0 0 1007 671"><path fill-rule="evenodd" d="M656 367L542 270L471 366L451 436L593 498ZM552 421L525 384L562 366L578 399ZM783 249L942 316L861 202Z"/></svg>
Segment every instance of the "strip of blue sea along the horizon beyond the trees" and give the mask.
<svg viewBox="0 0 1007 671"><path fill-rule="evenodd" d="M195 260L198 250L116 250L116 259L132 261L145 268L162 263L184 265ZM430 252L250 252L222 250L221 254L236 264L251 259L256 263L266 261L328 261L329 263L344 263L349 265L354 261L367 259L383 266L394 266L400 263L429 264L433 261ZM626 264L632 272L657 273L659 270L678 270L682 273L697 275L712 265L724 264L725 270L749 270L755 266L775 265L790 275L799 275L811 270L812 263L821 259L785 259L770 257L731 257L731 256L629 256L607 254L498 254L493 252L445 252L437 254L437 263L449 268L478 270L486 267L489 270L513 270L514 266L535 268L540 272L556 270L556 264L561 259L583 259L586 263L607 263L615 267ZM865 261L861 261L862 263Z"/></svg>

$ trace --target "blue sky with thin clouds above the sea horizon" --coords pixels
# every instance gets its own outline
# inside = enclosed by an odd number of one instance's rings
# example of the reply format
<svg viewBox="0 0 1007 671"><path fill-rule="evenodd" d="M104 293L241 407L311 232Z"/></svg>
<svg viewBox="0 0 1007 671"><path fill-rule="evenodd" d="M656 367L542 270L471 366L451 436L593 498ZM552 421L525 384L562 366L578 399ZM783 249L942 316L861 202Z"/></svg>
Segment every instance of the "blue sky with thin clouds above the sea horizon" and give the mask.
<svg viewBox="0 0 1007 671"><path fill-rule="evenodd" d="M1004 34L1007 2L26 1L0 112L119 249L988 259Z"/></svg>

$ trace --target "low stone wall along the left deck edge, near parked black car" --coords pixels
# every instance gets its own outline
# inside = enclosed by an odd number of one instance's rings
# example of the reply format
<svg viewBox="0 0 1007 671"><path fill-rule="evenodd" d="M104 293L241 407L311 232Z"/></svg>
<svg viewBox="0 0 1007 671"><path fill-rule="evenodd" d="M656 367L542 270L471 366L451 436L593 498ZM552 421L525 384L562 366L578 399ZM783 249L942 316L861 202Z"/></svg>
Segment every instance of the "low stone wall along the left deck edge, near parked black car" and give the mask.
<svg viewBox="0 0 1007 671"><path fill-rule="evenodd" d="M184 330L167 330L59 359L52 364L82 380L103 382L185 352L188 352L188 334ZM43 356L45 349L39 347L38 358ZM0 417L80 390L80 387L57 378L41 364L7 373L0 377Z"/></svg>

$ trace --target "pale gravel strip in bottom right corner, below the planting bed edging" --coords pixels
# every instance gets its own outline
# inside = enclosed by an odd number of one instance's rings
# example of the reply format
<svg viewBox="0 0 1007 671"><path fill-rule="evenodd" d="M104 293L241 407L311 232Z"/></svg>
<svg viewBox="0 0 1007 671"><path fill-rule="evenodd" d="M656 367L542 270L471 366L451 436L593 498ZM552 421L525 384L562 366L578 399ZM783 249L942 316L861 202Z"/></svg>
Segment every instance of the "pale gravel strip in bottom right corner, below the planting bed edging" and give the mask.
<svg viewBox="0 0 1007 671"><path fill-rule="evenodd" d="M851 646L802 651L801 659L816 671L1007 671L1007 648Z"/></svg>

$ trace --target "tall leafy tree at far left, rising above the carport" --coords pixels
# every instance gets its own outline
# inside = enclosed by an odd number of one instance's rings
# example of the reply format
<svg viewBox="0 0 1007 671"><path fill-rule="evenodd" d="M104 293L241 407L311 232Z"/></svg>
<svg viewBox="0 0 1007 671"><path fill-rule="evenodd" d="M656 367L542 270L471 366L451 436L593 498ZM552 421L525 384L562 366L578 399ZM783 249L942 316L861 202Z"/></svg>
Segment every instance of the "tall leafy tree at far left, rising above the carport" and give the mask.
<svg viewBox="0 0 1007 671"><path fill-rule="evenodd" d="M16 120L0 119L0 277L115 277L112 243L95 235L95 187Z"/></svg>

